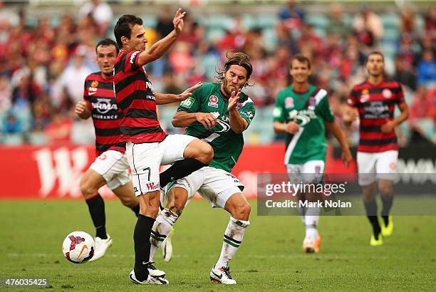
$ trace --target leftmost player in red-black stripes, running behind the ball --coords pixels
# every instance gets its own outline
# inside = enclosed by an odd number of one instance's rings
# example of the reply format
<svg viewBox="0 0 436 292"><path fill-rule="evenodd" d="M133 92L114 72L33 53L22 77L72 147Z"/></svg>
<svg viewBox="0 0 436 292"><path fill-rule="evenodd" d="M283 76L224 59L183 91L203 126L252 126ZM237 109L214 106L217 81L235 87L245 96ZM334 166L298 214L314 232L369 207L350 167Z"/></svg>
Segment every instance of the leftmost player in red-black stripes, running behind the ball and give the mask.
<svg viewBox="0 0 436 292"><path fill-rule="evenodd" d="M100 259L112 244L106 233L105 203L98 189L108 184L126 207L139 214L139 201L133 192L128 172L125 142L120 142L120 118L113 92L113 64L118 56L118 46L109 38L95 46L100 71L85 79L83 100L76 105L79 118L92 118L95 128L97 158L83 174L80 182L90 216L95 226L95 254L90 261Z"/></svg>

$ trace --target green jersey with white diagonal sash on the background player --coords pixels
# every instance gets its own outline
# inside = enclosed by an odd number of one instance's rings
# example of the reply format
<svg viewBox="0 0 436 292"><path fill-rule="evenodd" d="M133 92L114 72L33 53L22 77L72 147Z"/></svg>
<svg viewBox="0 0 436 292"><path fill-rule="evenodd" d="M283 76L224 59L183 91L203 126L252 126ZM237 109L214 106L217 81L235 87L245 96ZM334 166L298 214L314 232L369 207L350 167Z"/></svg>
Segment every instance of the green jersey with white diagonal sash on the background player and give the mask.
<svg viewBox="0 0 436 292"><path fill-rule="evenodd" d="M292 85L277 94L274 122L296 119L300 130L286 133L286 165L301 165L311 160L326 160L327 140L324 121L335 119L328 104L327 91L309 85L306 93L296 93Z"/></svg>

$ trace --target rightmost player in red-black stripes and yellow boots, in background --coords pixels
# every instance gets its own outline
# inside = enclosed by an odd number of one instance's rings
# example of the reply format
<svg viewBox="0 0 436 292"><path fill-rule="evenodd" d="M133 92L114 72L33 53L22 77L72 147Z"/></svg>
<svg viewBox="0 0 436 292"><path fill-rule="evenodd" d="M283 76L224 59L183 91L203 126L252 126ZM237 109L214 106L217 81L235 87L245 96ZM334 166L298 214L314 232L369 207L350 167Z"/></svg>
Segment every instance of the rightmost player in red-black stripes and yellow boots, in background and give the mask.
<svg viewBox="0 0 436 292"><path fill-rule="evenodd" d="M398 160L398 141L395 126L408 119L408 104L401 85L385 77L383 53L371 52L365 63L368 79L355 85L348 97L350 108L344 117L346 124L360 118L360 141L357 163L359 184L363 188L363 201L373 234L370 245L383 244L383 238L393 232L393 174ZM395 105L401 114L394 118ZM378 222L375 194L380 192L383 202L381 225Z"/></svg>

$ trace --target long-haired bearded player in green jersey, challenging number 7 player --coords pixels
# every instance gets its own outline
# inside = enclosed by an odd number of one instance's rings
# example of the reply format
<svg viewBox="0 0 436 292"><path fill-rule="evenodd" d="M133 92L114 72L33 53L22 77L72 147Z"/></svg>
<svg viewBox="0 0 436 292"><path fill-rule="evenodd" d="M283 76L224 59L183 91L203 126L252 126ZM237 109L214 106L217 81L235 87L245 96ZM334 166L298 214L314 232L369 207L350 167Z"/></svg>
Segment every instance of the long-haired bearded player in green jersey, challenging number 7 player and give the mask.
<svg viewBox="0 0 436 292"><path fill-rule="evenodd" d="M172 119L175 127L187 127L185 134L209 142L214 159L208 167L192 172L167 186L168 204L152 228L150 261L157 246L182 214L187 200L196 192L231 214L224 233L222 251L210 271L214 283L237 283L230 275L229 260L234 257L249 226L251 207L242 194L244 186L230 172L244 146L242 132L254 118L253 101L241 89L248 84L252 66L244 53L228 53L218 83L204 83L182 102Z"/></svg>

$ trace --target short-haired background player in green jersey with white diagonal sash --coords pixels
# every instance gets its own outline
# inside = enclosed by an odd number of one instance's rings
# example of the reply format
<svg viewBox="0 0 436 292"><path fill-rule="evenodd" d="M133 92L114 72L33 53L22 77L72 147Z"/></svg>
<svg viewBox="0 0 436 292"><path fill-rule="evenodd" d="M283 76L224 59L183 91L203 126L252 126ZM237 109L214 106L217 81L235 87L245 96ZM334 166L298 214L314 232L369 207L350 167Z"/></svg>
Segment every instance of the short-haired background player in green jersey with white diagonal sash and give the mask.
<svg viewBox="0 0 436 292"><path fill-rule="evenodd" d="M290 73L292 84L281 90L274 108L274 132L286 133L286 154L284 164L289 179L300 182L320 182L326 165L326 128L342 147L343 164L348 167L351 152L346 139L331 113L327 91L308 83L311 62L301 54L291 58ZM304 174L301 176L301 174ZM316 201L316 194L300 194L308 201ZM303 251L319 251L321 237L318 234L319 208L302 209L306 236Z"/></svg>

